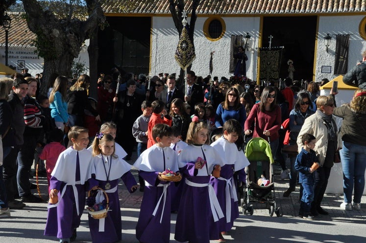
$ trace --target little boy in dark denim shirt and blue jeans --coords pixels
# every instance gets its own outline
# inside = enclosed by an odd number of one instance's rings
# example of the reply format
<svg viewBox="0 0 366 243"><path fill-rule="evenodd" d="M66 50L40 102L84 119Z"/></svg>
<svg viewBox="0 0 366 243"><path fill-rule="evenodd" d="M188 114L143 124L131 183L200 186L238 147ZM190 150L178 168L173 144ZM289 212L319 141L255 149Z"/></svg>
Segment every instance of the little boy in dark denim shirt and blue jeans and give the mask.
<svg viewBox="0 0 366 243"><path fill-rule="evenodd" d="M301 183L303 189L299 216L303 219L314 219L314 216L310 214L311 203L314 200L314 175L313 169L314 162L318 163L317 155L313 150L315 147L316 138L309 133L305 133L301 138L304 145L301 152L297 155L295 161L295 169L299 171L299 183Z"/></svg>

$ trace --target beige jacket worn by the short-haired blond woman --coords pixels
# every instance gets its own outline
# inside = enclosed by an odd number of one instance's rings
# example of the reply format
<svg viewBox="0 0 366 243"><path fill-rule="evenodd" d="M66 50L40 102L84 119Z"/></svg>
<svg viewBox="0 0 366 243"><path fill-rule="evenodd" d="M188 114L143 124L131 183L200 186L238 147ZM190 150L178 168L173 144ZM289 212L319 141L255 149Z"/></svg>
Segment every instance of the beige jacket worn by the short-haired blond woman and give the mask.
<svg viewBox="0 0 366 243"><path fill-rule="evenodd" d="M320 166L323 166L325 155L328 148L328 129L323 123L323 120L320 118L320 116L317 115L317 113L308 117L301 127L301 130L299 132L299 135L297 136L296 141L298 146L298 152L300 152L301 148L303 147L301 138L304 133L313 134L314 137L316 138L314 151L317 154ZM338 136L338 129L337 129L337 138L338 138L337 144L339 148L342 146L342 141L340 136Z"/></svg>

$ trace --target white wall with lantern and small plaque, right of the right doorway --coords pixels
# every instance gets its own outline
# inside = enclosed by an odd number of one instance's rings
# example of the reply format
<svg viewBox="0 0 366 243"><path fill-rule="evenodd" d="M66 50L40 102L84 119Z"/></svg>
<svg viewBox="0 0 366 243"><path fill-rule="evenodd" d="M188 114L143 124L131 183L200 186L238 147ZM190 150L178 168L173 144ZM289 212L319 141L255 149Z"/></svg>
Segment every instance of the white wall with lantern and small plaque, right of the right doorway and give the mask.
<svg viewBox="0 0 366 243"><path fill-rule="evenodd" d="M348 71L362 59L361 52L366 49L366 41L359 34L359 24L365 16L322 16L319 18L318 41L317 41L317 65L316 81L322 78L329 80L338 75L334 75L334 59L336 50L336 35L350 34L348 52ZM324 36L329 33L332 40L328 49L325 49ZM332 73L321 73L321 66L332 66Z"/></svg>

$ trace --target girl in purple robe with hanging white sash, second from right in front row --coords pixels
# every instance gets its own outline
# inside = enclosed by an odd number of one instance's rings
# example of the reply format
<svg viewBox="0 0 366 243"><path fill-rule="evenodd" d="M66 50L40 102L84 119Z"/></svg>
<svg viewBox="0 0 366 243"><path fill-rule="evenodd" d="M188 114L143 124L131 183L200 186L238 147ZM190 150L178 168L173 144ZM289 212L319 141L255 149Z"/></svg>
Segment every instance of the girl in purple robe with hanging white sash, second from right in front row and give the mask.
<svg viewBox="0 0 366 243"><path fill-rule="evenodd" d="M188 146L178 156L178 166L185 177L175 225L174 239L178 242L209 243L219 239L215 222L224 215L210 178L224 164L207 141L207 124L192 121L187 133Z"/></svg>

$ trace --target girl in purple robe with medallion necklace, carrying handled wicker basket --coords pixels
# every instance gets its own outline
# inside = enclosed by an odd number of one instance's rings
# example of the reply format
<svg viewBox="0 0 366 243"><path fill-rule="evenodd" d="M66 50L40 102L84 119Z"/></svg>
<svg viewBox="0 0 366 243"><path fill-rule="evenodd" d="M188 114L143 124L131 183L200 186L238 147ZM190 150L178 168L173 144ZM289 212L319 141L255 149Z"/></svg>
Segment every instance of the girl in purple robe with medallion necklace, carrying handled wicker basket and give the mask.
<svg viewBox="0 0 366 243"><path fill-rule="evenodd" d="M122 181L127 190L133 193L138 188L131 174L131 165L115 154L115 141L112 135L98 133L93 142L92 177L98 181L109 198L109 211L105 219L94 219L89 215L89 229L93 243L113 243L122 240L121 206L118 197L118 182ZM104 194L98 193L104 199Z"/></svg>

